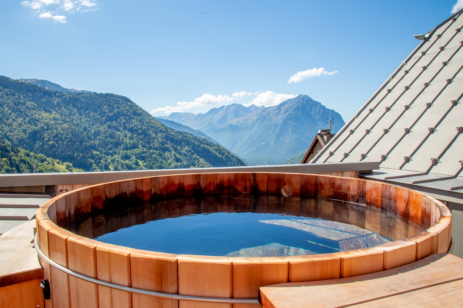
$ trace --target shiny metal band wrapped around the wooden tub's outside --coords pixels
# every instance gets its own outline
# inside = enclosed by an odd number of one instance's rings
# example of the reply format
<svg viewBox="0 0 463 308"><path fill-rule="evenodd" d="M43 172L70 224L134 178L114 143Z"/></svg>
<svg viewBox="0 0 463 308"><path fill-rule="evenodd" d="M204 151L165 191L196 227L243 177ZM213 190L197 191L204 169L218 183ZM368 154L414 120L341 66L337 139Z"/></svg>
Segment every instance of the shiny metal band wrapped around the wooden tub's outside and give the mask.
<svg viewBox="0 0 463 308"><path fill-rule="evenodd" d="M76 272L73 272L69 270L69 268L66 268L64 266L59 265L53 260L50 260L43 252L38 248L38 243L37 243L37 233L34 236L34 247L35 250L37 251L37 254L42 258L45 262L50 264L51 266L55 267L56 269L65 272L66 274L69 274L71 276L74 276L76 278L86 280L88 282L94 283L94 284L99 284L103 285L108 288L113 288L117 290L122 290L126 292L131 292L131 293L138 293L138 294L143 294L143 295L150 295L150 296L156 296L156 297L163 297L163 298L171 298L171 299L176 299L176 300L182 300L182 301L193 301L193 302L216 302L216 303L225 303L225 304L258 304L259 301L257 298L224 298L224 297L201 297L201 296L188 296L188 295L179 295L179 294L171 294L171 293L163 293L163 292L155 292L155 291L149 291L149 290L142 290L142 289L137 289L137 288L131 288L127 287L125 285L120 285L120 284L112 284L110 282L98 280L92 277L88 277Z"/></svg>

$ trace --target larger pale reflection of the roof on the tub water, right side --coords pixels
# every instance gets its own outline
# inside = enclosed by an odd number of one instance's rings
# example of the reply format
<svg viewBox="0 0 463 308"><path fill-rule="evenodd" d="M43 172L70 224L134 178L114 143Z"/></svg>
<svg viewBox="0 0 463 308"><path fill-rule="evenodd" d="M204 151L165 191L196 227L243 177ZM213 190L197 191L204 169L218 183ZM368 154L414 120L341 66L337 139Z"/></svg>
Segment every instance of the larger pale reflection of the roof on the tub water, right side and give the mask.
<svg viewBox="0 0 463 308"><path fill-rule="evenodd" d="M341 251L374 247L390 242L388 239L369 230L347 223L322 219L274 219L259 220L259 222L299 229L319 238L332 240L339 245L333 248Z"/></svg>

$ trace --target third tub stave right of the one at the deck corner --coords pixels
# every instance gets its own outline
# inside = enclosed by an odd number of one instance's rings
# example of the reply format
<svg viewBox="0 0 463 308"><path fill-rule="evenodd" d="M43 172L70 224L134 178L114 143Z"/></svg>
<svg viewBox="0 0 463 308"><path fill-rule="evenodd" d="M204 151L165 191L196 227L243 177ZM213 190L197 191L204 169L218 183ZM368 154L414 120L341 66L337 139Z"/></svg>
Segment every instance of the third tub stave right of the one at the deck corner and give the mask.
<svg viewBox="0 0 463 308"><path fill-rule="evenodd" d="M416 243L396 241L376 246L375 249L384 253L383 270L403 266L415 262Z"/></svg>

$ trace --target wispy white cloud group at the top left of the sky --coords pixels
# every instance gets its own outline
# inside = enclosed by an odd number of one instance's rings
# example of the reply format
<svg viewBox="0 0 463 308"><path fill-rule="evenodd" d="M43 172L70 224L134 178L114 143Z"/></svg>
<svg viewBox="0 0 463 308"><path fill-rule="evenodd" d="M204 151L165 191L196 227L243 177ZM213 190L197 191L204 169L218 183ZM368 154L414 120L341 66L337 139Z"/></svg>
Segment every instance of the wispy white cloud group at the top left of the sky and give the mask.
<svg viewBox="0 0 463 308"><path fill-rule="evenodd" d="M97 3L92 0L25 0L23 6L29 7L39 18L51 18L65 23L66 13L88 12L97 10Z"/></svg>

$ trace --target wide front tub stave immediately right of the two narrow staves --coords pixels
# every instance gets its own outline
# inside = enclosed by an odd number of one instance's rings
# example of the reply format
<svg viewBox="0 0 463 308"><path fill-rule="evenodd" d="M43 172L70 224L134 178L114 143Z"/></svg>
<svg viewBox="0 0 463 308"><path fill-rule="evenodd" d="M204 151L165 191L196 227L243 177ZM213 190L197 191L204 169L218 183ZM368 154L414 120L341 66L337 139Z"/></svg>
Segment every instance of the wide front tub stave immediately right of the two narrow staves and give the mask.
<svg viewBox="0 0 463 308"><path fill-rule="evenodd" d="M173 254L133 250L130 256L132 287L144 290L178 293L177 259ZM177 308L178 301L132 294L133 308Z"/></svg>

